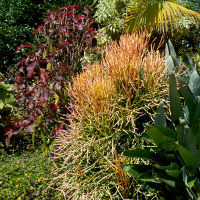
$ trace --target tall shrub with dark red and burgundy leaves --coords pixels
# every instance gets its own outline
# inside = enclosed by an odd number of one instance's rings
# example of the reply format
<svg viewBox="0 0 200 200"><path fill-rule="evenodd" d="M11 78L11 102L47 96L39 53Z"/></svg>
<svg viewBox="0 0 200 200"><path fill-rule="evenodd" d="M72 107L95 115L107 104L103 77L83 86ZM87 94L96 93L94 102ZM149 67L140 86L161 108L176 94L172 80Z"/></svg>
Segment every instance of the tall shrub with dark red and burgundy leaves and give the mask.
<svg viewBox="0 0 200 200"><path fill-rule="evenodd" d="M84 52L96 46L91 8L86 6L79 13L77 7L64 6L48 12L42 25L33 31L39 47L18 63L16 99L22 119L13 122L15 130L6 131L9 137L19 131L35 134L36 129L45 143L45 134L61 130L58 115L66 112L63 105L67 103L63 88L71 76L81 71ZM30 47L21 45L17 51Z"/></svg>

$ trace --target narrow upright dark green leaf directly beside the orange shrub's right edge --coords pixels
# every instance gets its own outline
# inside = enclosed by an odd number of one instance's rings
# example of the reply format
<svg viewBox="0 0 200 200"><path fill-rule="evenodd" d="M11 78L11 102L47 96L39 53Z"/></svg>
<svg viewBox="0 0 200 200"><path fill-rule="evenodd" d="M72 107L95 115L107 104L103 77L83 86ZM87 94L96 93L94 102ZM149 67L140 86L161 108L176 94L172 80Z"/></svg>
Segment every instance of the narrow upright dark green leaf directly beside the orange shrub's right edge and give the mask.
<svg viewBox="0 0 200 200"><path fill-rule="evenodd" d="M172 121L176 122L180 117L183 117L183 107L177 91L176 78L174 74L170 74L169 78L169 95L170 95L170 107L172 113Z"/></svg>

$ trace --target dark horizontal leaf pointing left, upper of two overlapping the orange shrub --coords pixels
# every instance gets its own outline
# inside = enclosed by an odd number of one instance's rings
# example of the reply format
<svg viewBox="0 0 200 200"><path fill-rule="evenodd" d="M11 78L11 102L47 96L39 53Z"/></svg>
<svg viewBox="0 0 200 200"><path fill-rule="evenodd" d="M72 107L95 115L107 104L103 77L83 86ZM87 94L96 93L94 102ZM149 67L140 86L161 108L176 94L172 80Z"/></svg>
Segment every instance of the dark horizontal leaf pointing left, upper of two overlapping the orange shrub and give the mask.
<svg viewBox="0 0 200 200"><path fill-rule="evenodd" d="M124 156L131 157L131 158L142 158L142 159L148 159L148 160L155 159L155 153L150 152L145 149L128 150L124 152Z"/></svg>

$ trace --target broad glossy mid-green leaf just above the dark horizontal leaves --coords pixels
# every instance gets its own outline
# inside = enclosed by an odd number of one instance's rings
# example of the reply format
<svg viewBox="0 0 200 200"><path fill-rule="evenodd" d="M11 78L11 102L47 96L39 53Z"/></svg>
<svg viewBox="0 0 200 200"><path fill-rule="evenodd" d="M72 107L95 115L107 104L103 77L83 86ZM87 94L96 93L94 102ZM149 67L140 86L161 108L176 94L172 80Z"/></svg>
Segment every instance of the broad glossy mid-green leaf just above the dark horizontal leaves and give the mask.
<svg viewBox="0 0 200 200"><path fill-rule="evenodd" d="M166 151L172 151L176 142L175 133L162 126L146 126L148 134L154 141L154 143Z"/></svg>

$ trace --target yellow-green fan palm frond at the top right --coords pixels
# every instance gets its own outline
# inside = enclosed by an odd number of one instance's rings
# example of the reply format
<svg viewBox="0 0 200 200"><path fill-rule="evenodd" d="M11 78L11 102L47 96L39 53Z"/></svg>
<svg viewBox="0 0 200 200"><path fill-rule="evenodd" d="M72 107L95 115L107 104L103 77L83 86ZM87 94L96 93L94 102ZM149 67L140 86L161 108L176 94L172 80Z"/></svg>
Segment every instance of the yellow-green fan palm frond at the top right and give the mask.
<svg viewBox="0 0 200 200"><path fill-rule="evenodd" d="M200 13L185 8L178 0L134 0L128 9L126 18L127 31L153 28L167 30L182 16L188 17L193 23L199 24Z"/></svg>

